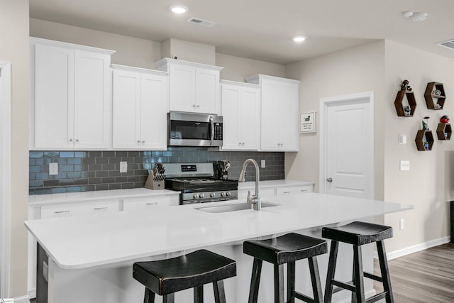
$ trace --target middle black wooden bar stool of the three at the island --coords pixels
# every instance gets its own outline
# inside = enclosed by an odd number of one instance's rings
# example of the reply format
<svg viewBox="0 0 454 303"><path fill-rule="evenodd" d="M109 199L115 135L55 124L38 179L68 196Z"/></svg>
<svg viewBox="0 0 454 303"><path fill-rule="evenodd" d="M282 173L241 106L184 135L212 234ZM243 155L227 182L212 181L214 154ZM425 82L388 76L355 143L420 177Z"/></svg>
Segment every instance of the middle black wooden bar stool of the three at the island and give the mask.
<svg viewBox="0 0 454 303"><path fill-rule="evenodd" d="M326 253L327 247L324 240L298 233L287 233L284 236L267 240L245 241L243 252L254 257L248 302L257 302L263 261L272 263L275 267L275 303L284 302L284 264L287 264L286 302L294 303L295 298L304 302L323 302L316 255ZM301 259L308 259L309 261L314 299L295 291L295 261Z"/></svg>

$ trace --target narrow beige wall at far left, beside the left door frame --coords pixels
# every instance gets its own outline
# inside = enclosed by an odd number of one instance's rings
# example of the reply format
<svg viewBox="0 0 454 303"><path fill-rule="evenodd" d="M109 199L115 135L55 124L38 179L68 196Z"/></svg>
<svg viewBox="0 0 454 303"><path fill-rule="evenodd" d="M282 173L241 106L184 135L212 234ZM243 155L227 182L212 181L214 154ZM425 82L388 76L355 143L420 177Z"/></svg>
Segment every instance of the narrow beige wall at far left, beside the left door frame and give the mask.
<svg viewBox="0 0 454 303"><path fill-rule="evenodd" d="M0 0L0 60L11 62L11 269L9 296L27 293L28 233L28 0Z"/></svg>

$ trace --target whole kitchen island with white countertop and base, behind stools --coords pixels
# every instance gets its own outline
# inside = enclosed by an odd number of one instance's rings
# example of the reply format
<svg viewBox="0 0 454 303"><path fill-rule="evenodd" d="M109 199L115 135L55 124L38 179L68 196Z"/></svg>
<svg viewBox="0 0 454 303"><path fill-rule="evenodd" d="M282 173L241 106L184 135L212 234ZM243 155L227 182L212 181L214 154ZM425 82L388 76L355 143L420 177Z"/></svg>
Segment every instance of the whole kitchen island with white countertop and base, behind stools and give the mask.
<svg viewBox="0 0 454 303"><path fill-rule="evenodd" d="M38 253L38 280L47 275L48 281L38 284L37 303L142 302L143 286L132 277L135 261L171 258L199 248L207 248L237 261L238 275L226 280L226 297L228 302L247 302L252 258L243 255L242 243L246 239L279 236L289 231L320 236L321 226L358 219L372 221L373 216L413 208L325 194L296 194L268 198L265 202L277 205L264 207L262 211L246 209L223 213L197 209L226 204L214 202L102 216L26 221L28 230L42 249ZM232 203L245 202L228 202ZM372 246L364 252L365 269L371 270ZM339 271L348 278L351 277L351 272L348 272L351 255L343 254L341 246L340 258L344 257L345 262L338 262L342 267ZM319 261L322 281L326 277L327 258L328 255L323 255ZM305 285L310 293L309 284L301 282L302 278L298 280L299 275L306 277L304 266L297 263L297 285ZM272 301L272 287L269 285L272 285L272 267L267 268L264 264L260 302ZM213 302L209 288L206 287L206 302ZM366 290L373 292L372 283L366 286ZM342 293L339 294L336 302L342 300ZM41 300L40 297L47 298ZM346 292L345 297L349 297ZM180 292L176 300L192 302L192 292Z"/></svg>

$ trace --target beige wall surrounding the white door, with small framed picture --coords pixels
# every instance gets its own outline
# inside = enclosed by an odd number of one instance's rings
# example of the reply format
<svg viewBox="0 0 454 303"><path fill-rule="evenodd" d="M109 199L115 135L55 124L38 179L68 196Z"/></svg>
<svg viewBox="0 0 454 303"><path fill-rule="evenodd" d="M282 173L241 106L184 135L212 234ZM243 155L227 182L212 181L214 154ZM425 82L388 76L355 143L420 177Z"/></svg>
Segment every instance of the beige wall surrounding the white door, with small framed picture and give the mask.
<svg viewBox="0 0 454 303"><path fill-rule="evenodd" d="M301 81L299 112L317 111L320 99L358 92L375 93L375 197L383 192L383 114L384 42L315 57L288 65L286 75ZM319 191L319 133L299 135L299 152L286 153L285 170L289 179L315 182Z"/></svg>

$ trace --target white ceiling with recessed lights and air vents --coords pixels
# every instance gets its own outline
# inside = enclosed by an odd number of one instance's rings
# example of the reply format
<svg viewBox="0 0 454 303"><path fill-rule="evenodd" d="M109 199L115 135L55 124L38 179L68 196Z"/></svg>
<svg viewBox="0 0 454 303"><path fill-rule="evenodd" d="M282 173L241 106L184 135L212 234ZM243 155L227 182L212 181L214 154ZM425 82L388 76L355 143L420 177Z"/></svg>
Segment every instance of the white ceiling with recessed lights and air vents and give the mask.
<svg viewBox="0 0 454 303"><path fill-rule="evenodd" d="M187 13L168 7L182 4ZM412 21L405 11L427 12ZM287 65L388 39L453 57L434 43L454 39L453 0L30 0L45 21L162 42L177 38L216 46L216 53ZM201 18L213 27L187 22ZM305 35L294 43L294 35Z"/></svg>

